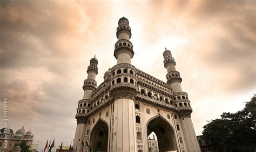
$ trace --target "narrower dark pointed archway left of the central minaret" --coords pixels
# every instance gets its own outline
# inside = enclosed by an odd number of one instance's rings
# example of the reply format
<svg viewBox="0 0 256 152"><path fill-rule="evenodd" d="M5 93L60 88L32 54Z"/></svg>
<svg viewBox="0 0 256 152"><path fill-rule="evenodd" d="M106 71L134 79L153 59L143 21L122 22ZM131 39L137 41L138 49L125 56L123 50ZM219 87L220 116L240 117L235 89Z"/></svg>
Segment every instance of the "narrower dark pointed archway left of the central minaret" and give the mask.
<svg viewBox="0 0 256 152"><path fill-rule="evenodd" d="M90 146L91 151L107 151L107 143L109 139L109 128L102 120L99 120L91 133Z"/></svg>

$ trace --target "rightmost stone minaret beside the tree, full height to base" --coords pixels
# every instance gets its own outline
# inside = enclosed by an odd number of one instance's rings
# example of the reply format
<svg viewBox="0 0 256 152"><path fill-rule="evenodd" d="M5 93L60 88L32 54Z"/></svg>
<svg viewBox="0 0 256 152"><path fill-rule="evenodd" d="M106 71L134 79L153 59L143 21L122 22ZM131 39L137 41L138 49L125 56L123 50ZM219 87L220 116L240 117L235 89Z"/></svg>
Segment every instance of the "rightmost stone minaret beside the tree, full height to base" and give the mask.
<svg viewBox="0 0 256 152"><path fill-rule="evenodd" d="M167 83L171 85L173 90L174 104L179 108L179 118L181 122L181 128L184 133L186 147L188 151L196 152L200 151L200 147L197 141L196 132L191 120L192 108L190 107L190 100L186 92L181 89L181 81L179 72L176 70L176 62L172 57L170 50L165 48L163 53L164 56L164 67L167 69Z"/></svg>

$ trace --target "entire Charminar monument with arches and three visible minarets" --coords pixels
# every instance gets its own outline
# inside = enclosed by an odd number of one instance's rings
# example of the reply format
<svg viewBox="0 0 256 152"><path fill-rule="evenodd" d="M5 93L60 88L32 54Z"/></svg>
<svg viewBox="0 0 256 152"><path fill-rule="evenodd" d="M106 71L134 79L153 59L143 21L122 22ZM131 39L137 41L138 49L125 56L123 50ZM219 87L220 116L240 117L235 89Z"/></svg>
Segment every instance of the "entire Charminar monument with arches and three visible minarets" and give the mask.
<svg viewBox="0 0 256 152"><path fill-rule="evenodd" d="M83 99L77 108L74 151L149 151L147 137L157 135L159 151L200 151L191 121L192 108L181 89L171 51L165 49L167 82L131 64L134 55L129 20L120 18L114 57L97 86L98 60L87 68ZM84 143L84 144L83 144Z"/></svg>

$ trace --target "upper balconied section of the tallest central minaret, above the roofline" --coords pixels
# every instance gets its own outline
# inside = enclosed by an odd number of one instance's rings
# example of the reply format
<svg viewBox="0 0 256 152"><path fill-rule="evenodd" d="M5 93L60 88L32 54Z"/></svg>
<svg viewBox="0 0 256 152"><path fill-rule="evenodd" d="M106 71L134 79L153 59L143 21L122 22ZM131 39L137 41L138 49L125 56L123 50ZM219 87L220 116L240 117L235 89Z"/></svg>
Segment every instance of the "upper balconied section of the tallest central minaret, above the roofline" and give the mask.
<svg viewBox="0 0 256 152"><path fill-rule="evenodd" d="M117 38L118 41L114 45L114 57L117 59L117 64L129 63L134 55L133 45L129 41L132 36L129 20L122 17L118 21Z"/></svg>

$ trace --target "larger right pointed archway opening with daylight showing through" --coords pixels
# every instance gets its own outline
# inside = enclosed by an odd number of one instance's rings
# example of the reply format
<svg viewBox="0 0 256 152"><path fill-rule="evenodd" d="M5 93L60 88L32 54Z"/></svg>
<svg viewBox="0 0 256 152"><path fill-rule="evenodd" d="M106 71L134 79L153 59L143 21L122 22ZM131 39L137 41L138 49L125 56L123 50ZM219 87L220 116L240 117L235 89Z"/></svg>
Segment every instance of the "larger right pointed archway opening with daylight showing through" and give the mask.
<svg viewBox="0 0 256 152"><path fill-rule="evenodd" d="M156 134L159 151L178 150L172 127L161 117L154 118L147 124L147 135Z"/></svg>

